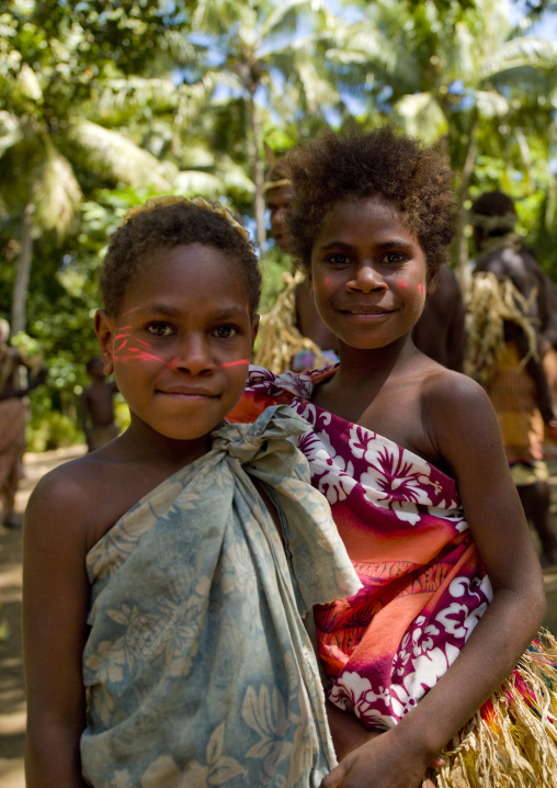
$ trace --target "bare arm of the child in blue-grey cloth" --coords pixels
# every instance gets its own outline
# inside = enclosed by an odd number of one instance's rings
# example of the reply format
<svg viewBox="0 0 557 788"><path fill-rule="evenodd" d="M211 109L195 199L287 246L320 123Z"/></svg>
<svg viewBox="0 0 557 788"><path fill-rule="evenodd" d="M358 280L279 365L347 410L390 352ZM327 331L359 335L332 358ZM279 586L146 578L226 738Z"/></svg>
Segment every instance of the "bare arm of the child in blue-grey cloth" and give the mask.
<svg viewBox="0 0 557 788"><path fill-rule="evenodd" d="M83 492L56 471L35 488L23 531L27 788L83 788L81 656L87 638Z"/></svg>

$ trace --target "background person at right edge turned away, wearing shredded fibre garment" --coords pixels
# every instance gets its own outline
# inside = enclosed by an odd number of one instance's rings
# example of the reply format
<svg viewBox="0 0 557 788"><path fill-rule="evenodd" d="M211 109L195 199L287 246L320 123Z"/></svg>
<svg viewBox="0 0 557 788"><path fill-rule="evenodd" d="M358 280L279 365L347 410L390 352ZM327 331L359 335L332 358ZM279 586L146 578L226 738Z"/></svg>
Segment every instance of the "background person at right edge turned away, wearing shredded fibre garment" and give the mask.
<svg viewBox="0 0 557 788"><path fill-rule="evenodd" d="M552 351L550 282L514 233L518 216L503 192L481 194L469 223L477 249L468 305L467 368L497 413L512 479L542 545L542 564L557 563L549 504L546 435L557 437L544 357Z"/></svg>

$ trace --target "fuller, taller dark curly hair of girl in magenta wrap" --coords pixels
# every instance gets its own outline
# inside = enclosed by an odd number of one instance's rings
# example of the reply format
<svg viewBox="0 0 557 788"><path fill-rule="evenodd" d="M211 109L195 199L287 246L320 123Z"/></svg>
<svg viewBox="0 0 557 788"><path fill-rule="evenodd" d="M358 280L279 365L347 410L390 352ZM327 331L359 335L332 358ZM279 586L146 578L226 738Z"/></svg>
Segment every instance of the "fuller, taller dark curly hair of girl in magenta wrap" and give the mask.
<svg viewBox="0 0 557 788"><path fill-rule="evenodd" d="M380 196L396 206L436 275L454 237L455 173L440 154L386 125L340 136L323 132L292 149L293 200L286 218L297 264L309 273L311 249L328 211L341 200Z"/></svg>

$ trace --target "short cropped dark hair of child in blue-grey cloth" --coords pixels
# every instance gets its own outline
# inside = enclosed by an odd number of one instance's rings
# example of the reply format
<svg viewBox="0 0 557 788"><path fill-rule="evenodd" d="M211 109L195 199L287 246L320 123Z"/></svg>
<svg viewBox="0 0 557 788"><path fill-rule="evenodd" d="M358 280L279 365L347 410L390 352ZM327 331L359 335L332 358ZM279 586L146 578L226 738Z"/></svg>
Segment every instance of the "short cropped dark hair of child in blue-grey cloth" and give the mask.
<svg viewBox="0 0 557 788"><path fill-rule="evenodd" d="M208 207L191 202L157 205L137 213L110 239L101 270L101 299L110 315L117 315L124 296L145 264L157 264L161 247L204 244L226 251L243 279L253 315L261 295L261 273L251 244Z"/></svg>

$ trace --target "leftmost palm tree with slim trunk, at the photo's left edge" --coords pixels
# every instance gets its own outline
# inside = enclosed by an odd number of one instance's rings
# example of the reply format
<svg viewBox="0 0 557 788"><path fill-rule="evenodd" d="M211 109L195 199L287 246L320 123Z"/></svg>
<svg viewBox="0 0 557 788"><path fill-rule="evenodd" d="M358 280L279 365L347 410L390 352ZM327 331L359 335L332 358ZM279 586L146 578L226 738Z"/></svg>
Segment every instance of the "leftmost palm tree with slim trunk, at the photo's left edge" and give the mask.
<svg viewBox="0 0 557 788"><path fill-rule="evenodd" d="M83 173L158 189L170 187L171 173L123 134L80 114L82 82L90 75L72 74L81 45L75 30L50 42L30 15L14 14L11 25L11 35L0 37L0 88L7 97L0 113L0 209L20 222L11 316L16 334L26 324L33 240L53 230L61 239L68 232L81 205Z"/></svg>

